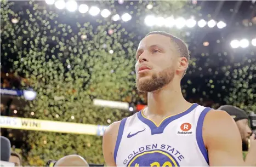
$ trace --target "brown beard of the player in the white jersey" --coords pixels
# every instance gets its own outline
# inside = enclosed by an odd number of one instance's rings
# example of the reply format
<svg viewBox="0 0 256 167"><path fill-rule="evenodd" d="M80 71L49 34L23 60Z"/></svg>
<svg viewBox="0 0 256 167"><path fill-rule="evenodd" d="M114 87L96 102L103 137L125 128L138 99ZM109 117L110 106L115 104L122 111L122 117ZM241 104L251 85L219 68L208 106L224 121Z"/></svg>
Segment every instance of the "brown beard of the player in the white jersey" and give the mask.
<svg viewBox="0 0 256 167"><path fill-rule="evenodd" d="M146 74L144 74L146 76ZM141 74L141 77L144 77ZM153 73L149 79L139 79L136 77L136 88L143 92L151 92L163 88L165 85L172 82L174 78L174 69L172 67L166 68L158 73Z"/></svg>

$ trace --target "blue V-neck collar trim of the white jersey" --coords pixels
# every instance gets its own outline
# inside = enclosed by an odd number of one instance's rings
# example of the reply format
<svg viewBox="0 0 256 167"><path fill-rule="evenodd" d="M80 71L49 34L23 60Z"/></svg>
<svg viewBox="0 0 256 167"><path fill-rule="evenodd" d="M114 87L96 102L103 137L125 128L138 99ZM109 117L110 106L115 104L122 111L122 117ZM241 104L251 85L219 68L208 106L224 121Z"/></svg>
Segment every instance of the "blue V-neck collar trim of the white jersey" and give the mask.
<svg viewBox="0 0 256 167"><path fill-rule="evenodd" d="M163 120L163 122L161 123L161 125L157 126L155 123L153 123L151 120L143 117L141 111L138 112L137 116L138 118L141 120L141 122L144 122L147 126L149 126L150 130L151 130L151 135L155 135L155 134L162 134L163 130L166 128L166 126L172 122L175 119L178 119L180 117L185 116L186 114L190 113L191 111L193 111L196 107L198 106L197 103L194 103L191 105L191 107L189 107L189 109L187 109L186 111L179 113L175 116L166 118Z"/></svg>

